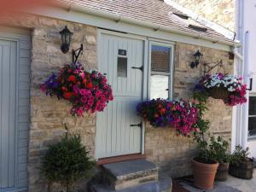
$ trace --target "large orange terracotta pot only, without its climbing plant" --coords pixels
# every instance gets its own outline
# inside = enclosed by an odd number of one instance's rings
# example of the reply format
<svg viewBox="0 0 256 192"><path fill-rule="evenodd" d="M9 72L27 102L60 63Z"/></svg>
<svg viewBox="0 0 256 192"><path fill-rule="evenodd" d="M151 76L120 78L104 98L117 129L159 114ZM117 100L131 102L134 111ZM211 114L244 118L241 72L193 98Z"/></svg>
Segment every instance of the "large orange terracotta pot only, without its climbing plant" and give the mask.
<svg viewBox="0 0 256 192"><path fill-rule="evenodd" d="M194 158L192 160L194 185L199 189L213 189L214 178L218 169L218 162L212 164L201 163Z"/></svg>

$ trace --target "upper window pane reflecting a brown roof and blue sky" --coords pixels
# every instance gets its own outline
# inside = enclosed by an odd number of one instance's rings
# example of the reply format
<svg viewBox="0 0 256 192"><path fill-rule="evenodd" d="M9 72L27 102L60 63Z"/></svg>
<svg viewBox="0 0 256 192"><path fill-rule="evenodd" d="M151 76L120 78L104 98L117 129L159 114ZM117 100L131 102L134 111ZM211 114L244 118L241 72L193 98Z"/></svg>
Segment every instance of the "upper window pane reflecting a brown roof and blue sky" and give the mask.
<svg viewBox="0 0 256 192"><path fill-rule="evenodd" d="M171 48L159 45L151 46L151 70L154 72L170 72Z"/></svg>

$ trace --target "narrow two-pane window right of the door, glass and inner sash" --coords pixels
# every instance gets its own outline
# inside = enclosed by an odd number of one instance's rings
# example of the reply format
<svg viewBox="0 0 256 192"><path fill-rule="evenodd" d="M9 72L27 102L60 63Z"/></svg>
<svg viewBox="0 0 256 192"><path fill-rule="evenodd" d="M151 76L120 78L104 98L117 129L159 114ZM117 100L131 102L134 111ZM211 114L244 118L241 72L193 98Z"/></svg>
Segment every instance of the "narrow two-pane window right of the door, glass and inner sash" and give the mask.
<svg viewBox="0 0 256 192"><path fill-rule="evenodd" d="M150 99L172 98L172 46L150 45Z"/></svg>

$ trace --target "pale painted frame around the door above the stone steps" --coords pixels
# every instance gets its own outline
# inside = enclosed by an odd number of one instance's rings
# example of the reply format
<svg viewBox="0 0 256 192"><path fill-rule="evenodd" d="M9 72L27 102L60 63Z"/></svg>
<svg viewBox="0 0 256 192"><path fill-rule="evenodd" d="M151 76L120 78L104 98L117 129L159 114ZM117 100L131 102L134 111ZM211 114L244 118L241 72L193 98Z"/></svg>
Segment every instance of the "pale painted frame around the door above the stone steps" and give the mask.
<svg viewBox="0 0 256 192"><path fill-rule="evenodd" d="M132 38L132 39L137 39L137 40L142 40L143 41L143 91L142 91L142 101L145 101L148 99L148 38L143 37L143 36L139 36L139 35L133 35L133 34L128 34L125 32L114 32L114 31L109 31L106 29L101 29L98 28L97 29L97 34L96 34L96 38L97 38L97 45L96 45L96 63L97 63L97 68L100 71L100 47L102 44L102 34L107 34L107 35L113 35L113 36L117 36L117 37L121 37L121 38ZM97 121L97 114L96 114L96 121ZM143 122L143 119L142 119ZM141 154L143 156L143 154L145 153L145 122L143 122L143 128L142 128L142 139L141 139ZM97 129L97 126L96 126ZM97 131L97 130L96 130ZM97 133L96 133L97 134ZM95 136L96 137L96 136ZM97 154L96 154L96 140L95 140L95 157L96 160L99 159L103 159L103 158L98 158ZM129 155L129 154L127 154ZM123 155L125 156L125 155ZM110 158L114 158L114 157L110 157ZM104 158L105 159L105 158Z"/></svg>

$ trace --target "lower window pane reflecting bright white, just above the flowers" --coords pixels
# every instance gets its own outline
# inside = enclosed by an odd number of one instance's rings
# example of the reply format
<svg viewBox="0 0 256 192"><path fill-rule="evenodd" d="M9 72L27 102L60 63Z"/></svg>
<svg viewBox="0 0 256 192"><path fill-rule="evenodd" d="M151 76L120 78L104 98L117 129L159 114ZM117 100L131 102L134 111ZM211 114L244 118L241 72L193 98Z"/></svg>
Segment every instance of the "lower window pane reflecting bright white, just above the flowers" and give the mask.
<svg viewBox="0 0 256 192"><path fill-rule="evenodd" d="M151 75L150 77L150 99L168 99L169 76Z"/></svg>

